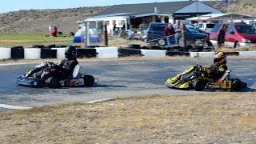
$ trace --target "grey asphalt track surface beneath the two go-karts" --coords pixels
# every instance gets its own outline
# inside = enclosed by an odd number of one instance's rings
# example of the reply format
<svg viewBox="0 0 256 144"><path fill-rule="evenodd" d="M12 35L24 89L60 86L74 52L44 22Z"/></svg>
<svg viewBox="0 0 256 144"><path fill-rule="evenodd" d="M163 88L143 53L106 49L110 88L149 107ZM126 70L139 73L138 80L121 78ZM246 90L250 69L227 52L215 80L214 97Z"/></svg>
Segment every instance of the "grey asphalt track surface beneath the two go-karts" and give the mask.
<svg viewBox="0 0 256 144"><path fill-rule="evenodd" d="M10 106L50 106L69 102L89 102L109 98L134 97L147 94L215 94L218 91L171 90L164 86L166 78L181 73L191 65L210 66L211 58L99 60L80 62L82 73L98 78L93 87L62 89L18 86L15 78L34 68L34 64L0 65L0 111ZM233 78L247 82L245 92L255 91L256 58L228 58Z"/></svg>

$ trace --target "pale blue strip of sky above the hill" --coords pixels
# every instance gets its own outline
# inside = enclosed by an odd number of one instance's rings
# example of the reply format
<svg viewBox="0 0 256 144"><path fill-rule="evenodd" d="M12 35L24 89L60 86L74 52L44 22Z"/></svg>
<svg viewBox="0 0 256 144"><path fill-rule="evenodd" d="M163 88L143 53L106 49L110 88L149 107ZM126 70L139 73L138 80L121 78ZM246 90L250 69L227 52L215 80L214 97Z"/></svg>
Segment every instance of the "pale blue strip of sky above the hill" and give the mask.
<svg viewBox="0 0 256 144"><path fill-rule="evenodd" d="M184 0L0 0L0 13L18 10L66 9L83 6L113 6L128 3L174 2ZM185 0L188 1L188 0Z"/></svg>

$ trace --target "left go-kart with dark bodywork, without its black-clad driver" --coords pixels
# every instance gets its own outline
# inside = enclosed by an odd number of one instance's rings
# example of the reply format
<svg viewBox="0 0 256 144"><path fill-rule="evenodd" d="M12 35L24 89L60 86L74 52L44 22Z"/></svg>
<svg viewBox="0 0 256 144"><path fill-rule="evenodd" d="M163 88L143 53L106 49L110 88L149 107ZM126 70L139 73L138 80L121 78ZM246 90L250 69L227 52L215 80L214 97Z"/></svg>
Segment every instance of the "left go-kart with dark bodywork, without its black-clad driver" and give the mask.
<svg viewBox="0 0 256 144"><path fill-rule="evenodd" d="M34 67L35 71L44 71L45 74L49 74L54 70L54 67L57 65L54 62L42 62L38 66ZM31 70L32 71L32 70ZM31 76L26 76L31 71L27 72L24 75L19 76L16 79L16 83L22 86L32 86L32 87L45 87L48 86L50 88L60 88L66 86L93 86L95 83L95 78L91 75L80 73L80 66L75 66L72 76L66 79L59 80L54 76L50 76L49 78L42 78L41 74L37 73L32 74ZM97 79L98 80L98 79Z"/></svg>

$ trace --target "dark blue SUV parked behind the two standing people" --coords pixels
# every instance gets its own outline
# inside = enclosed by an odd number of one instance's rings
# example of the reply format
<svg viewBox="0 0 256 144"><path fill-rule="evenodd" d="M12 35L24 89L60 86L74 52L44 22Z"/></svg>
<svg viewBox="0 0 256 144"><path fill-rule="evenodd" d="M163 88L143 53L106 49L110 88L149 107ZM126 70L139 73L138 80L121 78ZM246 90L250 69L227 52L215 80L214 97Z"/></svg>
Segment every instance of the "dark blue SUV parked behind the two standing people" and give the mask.
<svg viewBox="0 0 256 144"><path fill-rule="evenodd" d="M162 22L150 22L150 26L147 30L146 42L150 44L157 44L159 46L166 45L166 39L164 38L163 31L168 26L168 23ZM194 44L203 43L207 37L207 34L202 34L198 30L194 29L194 26L186 26L186 41ZM171 38L174 43L174 38Z"/></svg>

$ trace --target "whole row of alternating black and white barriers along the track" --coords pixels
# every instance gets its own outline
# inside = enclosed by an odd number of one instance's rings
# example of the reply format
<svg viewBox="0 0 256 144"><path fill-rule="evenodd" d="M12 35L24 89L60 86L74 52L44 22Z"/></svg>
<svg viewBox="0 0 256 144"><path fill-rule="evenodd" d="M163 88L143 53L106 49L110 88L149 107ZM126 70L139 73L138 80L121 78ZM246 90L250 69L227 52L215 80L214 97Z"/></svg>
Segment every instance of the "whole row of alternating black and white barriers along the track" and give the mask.
<svg viewBox="0 0 256 144"><path fill-rule="evenodd" d="M0 48L0 59L38 59L38 58L65 58L66 48L38 49L26 48L23 46L14 46L11 48ZM148 50L134 49L129 47L96 47L96 48L78 48L78 58L120 58L126 56L144 56L144 57L166 57L166 56L190 56L191 58L198 57L214 57L214 51L204 52L188 52L186 50ZM207 50L205 48L204 50ZM211 50L211 49L209 49ZM240 52L225 52L228 56L245 56L255 57L256 51L240 51Z"/></svg>

